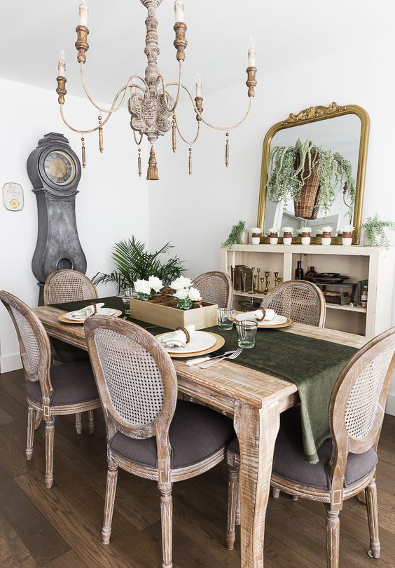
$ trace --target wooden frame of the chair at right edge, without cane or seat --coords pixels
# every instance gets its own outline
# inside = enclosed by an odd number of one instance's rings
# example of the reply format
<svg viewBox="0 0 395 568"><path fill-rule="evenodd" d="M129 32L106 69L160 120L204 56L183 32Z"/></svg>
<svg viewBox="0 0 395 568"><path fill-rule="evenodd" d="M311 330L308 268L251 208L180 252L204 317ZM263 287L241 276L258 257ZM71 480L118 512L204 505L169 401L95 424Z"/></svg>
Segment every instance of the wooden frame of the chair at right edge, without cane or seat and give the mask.
<svg viewBox="0 0 395 568"><path fill-rule="evenodd" d="M352 438L347 432L345 425L345 412L349 394L361 372L363 372L375 357L389 347L395 347L395 327L391 327L390 330L378 335L363 346L362 349L359 349L349 360L347 365L343 367L333 386L328 414L332 438L332 454L327 464L328 473L331 478L330 489L317 489L300 485L272 473L271 485L274 487L275 497L278 497L279 492L283 491L292 495L294 499L302 497L303 499L324 503L326 507L326 559L328 568L339 567L339 515L342 510L343 502L354 496L359 496L361 492L365 492L366 509L368 513L370 533L370 550L368 551L368 555L370 557L380 558L377 487L375 483L376 471L374 469L369 475L366 475L365 478L353 485L349 485L349 487L344 487L344 480L349 452L362 454L367 452L370 448L377 451L389 384L391 383L391 376L395 370L395 352L384 378L375 419L368 435L361 439ZM235 491L235 487L237 489L240 456L228 450L227 462L229 466L227 546L232 549L235 542L235 510L237 500L237 490Z"/></svg>

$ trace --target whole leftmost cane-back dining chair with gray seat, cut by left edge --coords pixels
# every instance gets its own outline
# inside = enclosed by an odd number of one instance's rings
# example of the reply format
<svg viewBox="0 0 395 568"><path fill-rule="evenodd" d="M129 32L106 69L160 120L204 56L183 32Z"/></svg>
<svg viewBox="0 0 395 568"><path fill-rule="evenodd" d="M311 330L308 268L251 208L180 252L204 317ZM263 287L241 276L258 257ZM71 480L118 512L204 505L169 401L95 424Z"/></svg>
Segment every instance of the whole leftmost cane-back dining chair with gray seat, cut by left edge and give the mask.
<svg viewBox="0 0 395 568"><path fill-rule="evenodd" d="M55 417L100 407L99 395L88 360L51 365L50 342L43 324L22 300L0 292L18 334L27 391L26 459L33 457L36 415L46 423L46 487L53 485ZM90 425L92 429L92 425Z"/></svg>

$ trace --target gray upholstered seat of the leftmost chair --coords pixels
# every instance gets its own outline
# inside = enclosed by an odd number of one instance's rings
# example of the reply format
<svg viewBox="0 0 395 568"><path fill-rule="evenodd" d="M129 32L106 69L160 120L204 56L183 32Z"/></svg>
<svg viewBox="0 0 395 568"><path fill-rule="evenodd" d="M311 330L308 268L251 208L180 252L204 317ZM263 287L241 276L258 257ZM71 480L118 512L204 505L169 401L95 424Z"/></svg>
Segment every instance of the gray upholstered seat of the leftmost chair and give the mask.
<svg viewBox="0 0 395 568"><path fill-rule="evenodd" d="M50 378L55 390L50 399L52 406L72 405L99 398L90 361L51 365ZM39 381L28 381L26 390L31 398L41 403Z"/></svg>

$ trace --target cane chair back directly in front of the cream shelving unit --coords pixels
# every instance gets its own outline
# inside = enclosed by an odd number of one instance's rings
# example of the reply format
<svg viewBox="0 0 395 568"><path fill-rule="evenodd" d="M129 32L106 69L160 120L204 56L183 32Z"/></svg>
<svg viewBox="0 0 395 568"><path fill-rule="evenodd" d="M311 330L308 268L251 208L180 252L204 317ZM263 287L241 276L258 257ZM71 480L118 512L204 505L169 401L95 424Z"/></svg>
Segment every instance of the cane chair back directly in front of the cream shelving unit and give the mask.
<svg viewBox="0 0 395 568"><path fill-rule="evenodd" d="M307 280L289 280L273 288L262 300L262 308L274 309L298 323L324 327L326 303L317 285Z"/></svg>

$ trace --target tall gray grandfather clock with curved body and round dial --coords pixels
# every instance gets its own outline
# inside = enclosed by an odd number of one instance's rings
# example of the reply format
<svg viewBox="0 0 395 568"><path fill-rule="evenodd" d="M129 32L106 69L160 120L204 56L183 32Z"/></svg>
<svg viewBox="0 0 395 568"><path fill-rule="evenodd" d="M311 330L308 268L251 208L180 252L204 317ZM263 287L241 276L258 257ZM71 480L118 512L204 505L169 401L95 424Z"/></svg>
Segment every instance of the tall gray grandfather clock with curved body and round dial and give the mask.
<svg viewBox="0 0 395 568"><path fill-rule="evenodd" d="M32 270L36 276L39 306L48 274L58 269L85 273L86 257L78 238L76 194L81 163L62 134L49 133L27 160L27 173L37 198L39 231Z"/></svg>

